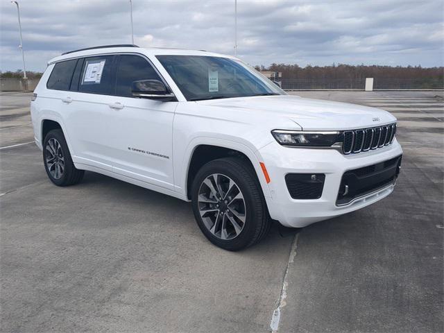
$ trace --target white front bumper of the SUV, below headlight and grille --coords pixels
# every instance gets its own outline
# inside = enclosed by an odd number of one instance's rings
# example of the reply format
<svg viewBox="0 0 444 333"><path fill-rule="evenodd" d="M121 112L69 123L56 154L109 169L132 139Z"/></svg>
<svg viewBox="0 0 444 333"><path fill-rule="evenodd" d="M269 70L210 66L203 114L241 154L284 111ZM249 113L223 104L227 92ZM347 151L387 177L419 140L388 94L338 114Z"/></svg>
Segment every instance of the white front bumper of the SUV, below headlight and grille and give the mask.
<svg viewBox="0 0 444 333"><path fill-rule="evenodd" d="M375 151L343 155L334 149L293 148L272 142L259 150L271 182L271 197L266 198L272 219L288 227L304 227L314 222L359 210L391 194L395 180L375 191L354 198L345 205L338 205L338 192L346 171L367 167L402 155L400 144L393 143ZM285 176L290 173L324 173L322 195L316 199L291 198Z"/></svg>

